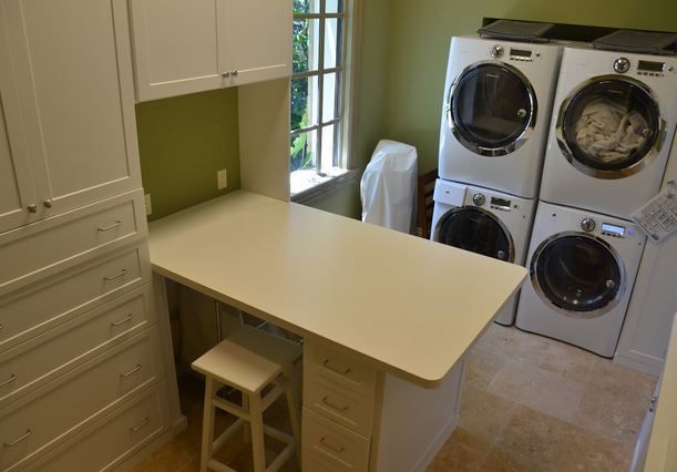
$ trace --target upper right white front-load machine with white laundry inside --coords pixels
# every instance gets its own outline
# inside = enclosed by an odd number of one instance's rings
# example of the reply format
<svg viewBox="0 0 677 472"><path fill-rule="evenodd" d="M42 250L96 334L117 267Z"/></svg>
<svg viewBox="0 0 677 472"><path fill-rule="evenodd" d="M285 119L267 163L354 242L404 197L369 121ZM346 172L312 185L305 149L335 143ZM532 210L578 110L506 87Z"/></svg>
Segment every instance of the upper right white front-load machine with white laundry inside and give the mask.
<svg viewBox="0 0 677 472"><path fill-rule="evenodd" d="M541 199L622 218L660 187L677 124L677 58L565 48Z"/></svg>

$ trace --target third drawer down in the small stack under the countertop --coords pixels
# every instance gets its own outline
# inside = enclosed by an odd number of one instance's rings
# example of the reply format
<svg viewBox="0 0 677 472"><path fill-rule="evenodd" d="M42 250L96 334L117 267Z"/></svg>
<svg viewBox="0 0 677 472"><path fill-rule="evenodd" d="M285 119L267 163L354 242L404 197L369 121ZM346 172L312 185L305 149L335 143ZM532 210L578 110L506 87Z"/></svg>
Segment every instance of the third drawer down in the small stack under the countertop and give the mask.
<svg viewBox="0 0 677 472"><path fill-rule="evenodd" d="M351 471L367 471L369 440L304 408L304 452L312 452ZM312 469L310 469L312 470Z"/></svg>

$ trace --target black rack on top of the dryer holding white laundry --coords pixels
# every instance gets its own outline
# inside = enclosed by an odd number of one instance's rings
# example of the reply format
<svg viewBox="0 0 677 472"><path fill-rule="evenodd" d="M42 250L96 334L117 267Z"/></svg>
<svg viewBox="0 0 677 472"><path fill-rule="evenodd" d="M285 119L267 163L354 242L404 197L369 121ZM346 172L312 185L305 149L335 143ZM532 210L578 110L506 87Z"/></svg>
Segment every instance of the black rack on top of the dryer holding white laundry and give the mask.
<svg viewBox="0 0 677 472"><path fill-rule="evenodd" d="M618 30L593 41L595 49L671 55L677 53L677 34Z"/></svg>

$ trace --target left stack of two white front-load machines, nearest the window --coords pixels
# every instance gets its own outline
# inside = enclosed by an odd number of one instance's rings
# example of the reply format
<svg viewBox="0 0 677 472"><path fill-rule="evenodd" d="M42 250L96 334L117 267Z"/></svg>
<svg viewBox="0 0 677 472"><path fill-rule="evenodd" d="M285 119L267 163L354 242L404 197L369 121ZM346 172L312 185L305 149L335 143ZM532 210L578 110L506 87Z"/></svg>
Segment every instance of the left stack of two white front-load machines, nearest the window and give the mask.
<svg viewBox="0 0 677 472"><path fill-rule="evenodd" d="M451 40L431 239L523 265L562 47L543 39L552 24L492 27Z"/></svg>

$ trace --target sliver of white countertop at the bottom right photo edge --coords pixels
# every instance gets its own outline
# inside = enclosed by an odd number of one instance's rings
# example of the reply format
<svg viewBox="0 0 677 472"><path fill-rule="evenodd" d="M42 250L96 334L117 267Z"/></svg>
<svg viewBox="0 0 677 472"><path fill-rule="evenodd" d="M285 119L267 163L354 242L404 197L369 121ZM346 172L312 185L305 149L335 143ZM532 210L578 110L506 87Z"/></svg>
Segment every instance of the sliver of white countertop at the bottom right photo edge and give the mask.
<svg viewBox="0 0 677 472"><path fill-rule="evenodd" d="M677 316L673 321L670 345L665 358L656 418L652 428L646 472L677 471Z"/></svg>

